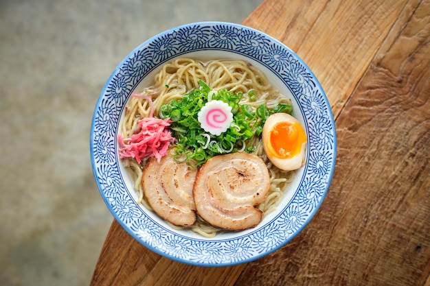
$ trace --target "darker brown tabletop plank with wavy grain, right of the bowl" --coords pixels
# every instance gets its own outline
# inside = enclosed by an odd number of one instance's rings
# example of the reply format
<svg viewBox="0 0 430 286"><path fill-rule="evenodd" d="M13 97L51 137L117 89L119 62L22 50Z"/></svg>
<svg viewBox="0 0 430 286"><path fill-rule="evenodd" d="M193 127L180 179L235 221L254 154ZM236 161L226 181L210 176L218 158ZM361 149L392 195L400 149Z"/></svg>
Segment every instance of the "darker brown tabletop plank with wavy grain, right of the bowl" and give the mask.
<svg viewBox="0 0 430 286"><path fill-rule="evenodd" d="M429 283L429 17L430 1L403 9L337 119L337 166L319 213L236 286Z"/></svg>

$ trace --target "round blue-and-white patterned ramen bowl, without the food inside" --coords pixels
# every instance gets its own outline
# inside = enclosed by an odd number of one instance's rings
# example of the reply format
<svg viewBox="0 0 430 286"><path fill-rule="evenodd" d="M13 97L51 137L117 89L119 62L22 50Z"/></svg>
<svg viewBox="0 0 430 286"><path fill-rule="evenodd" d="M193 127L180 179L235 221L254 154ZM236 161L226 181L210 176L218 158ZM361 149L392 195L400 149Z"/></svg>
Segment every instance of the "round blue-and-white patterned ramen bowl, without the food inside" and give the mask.
<svg viewBox="0 0 430 286"><path fill-rule="evenodd" d="M133 179L118 154L117 133L134 91L152 81L163 64L179 57L245 60L291 99L293 116L308 137L306 164L282 202L258 226L205 238L172 228L137 204ZM317 212L328 191L336 158L335 122L317 78L291 49L256 29L221 22L181 25L131 51L107 80L93 114L91 163L98 189L117 222L150 250L192 265L228 266L253 261L291 241Z"/></svg>

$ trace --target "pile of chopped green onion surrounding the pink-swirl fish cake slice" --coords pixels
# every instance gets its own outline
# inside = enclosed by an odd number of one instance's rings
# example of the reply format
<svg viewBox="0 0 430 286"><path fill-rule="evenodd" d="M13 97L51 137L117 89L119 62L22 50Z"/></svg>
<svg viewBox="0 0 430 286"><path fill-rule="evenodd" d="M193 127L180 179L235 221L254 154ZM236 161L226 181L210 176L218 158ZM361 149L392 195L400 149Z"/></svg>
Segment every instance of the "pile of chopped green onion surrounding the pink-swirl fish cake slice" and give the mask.
<svg viewBox="0 0 430 286"><path fill-rule="evenodd" d="M262 104L254 111L248 104L240 103L242 93L227 91L225 88L214 91L202 80L199 84L199 88L194 88L182 99L172 99L159 109L161 119L170 118L172 121L169 128L177 139L171 154L175 160L187 162L192 167L199 167L219 154L254 152L256 147L251 145L251 139L261 135L267 117L275 112L291 112L291 106L287 104L278 104L275 108ZM251 101L256 100L255 91L249 91L248 95ZM231 126L219 136L207 134L197 120L201 108L211 100L227 103L234 115Z"/></svg>

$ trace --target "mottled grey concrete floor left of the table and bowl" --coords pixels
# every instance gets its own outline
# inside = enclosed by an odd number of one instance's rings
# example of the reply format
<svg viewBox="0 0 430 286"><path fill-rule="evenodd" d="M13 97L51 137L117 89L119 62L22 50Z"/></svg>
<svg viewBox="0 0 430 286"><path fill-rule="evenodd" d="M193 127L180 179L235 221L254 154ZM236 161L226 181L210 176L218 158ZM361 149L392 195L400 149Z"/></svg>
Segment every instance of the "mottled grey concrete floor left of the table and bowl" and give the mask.
<svg viewBox="0 0 430 286"><path fill-rule="evenodd" d="M137 45L262 0L0 0L0 285L88 285L113 217L89 158L104 82Z"/></svg>

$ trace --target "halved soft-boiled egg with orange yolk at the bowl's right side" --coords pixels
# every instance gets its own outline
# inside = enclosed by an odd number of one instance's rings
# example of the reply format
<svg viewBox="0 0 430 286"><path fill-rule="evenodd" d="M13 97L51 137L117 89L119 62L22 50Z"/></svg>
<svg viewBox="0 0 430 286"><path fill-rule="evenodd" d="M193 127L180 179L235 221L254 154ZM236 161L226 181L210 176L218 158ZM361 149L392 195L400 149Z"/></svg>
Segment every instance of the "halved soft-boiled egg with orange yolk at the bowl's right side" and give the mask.
<svg viewBox="0 0 430 286"><path fill-rule="evenodd" d="M304 165L306 133L291 115L269 116L263 126L262 140L267 158L279 169L291 171Z"/></svg>

